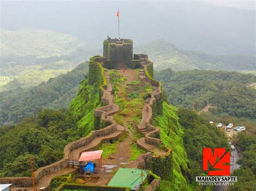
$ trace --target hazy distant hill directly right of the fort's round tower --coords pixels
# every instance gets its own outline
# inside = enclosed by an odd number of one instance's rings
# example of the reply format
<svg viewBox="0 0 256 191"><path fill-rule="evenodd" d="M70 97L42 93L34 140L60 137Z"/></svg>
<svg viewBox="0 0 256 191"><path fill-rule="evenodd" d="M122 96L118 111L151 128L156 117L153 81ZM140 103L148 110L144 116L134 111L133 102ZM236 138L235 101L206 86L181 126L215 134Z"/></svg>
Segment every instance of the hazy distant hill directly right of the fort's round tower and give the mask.
<svg viewBox="0 0 256 191"><path fill-rule="evenodd" d="M148 54L154 62L154 69L173 70L212 69L242 71L255 70L255 57L245 55L211 55L197 51L179 49L169 41L155 40L134 47L138 53Z"/></svg>

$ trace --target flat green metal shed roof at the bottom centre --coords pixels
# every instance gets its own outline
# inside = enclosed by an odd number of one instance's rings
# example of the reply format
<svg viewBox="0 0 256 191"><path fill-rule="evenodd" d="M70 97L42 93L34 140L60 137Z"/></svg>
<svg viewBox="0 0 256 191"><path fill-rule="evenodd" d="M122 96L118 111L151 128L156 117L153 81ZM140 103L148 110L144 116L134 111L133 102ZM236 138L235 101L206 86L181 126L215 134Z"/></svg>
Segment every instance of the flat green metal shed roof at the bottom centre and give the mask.
<svg viewBox="0 0 256 191"><path fill-rule="evenodd" d="M145 181L147 174L149 172L138 168L119 168L107 186L130 187L131 190L136 190Z"/></svg>

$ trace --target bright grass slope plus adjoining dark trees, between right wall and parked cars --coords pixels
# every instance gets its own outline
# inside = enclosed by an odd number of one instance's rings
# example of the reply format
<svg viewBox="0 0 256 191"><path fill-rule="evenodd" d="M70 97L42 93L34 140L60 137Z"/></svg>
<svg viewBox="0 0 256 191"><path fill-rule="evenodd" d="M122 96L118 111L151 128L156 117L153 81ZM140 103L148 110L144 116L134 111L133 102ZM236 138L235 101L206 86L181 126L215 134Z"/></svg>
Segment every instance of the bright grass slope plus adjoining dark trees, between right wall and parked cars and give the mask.
<svg viewBox="0 0 256 191"><path fill-rule="evenodd" d="M160 128L163 144L173 155L173 179L161 180L159 190L201 190L195 182L203 172L203 147L226 147L227 139L217 128L191 109L175 108L164 102L163 115L153 122ZM206 189L206 188L205 188Z"/></svg>

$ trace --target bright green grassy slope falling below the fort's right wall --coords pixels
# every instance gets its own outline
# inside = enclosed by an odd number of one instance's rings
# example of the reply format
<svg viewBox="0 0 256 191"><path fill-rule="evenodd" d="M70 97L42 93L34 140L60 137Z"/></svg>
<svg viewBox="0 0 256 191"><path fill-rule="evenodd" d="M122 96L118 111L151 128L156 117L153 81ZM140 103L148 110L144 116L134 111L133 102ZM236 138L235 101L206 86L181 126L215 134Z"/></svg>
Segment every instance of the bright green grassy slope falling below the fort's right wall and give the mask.
<svg viewBox="0 0 256 191"><path fill-rule="evenodd" d="M157 116L153 124L160 128L160 137L165 146L172 150L173 155L173 180L164 180L161 182L160 189L165 190L188 190L190 187L183 175L182 171L188 171L187 154L183 145L182 136L184 134L178 122L178 110L172 105L163 103L163 115ZM167 126L171 123L171 129L167 130ZM167 135L169 131L170 135Z"/></svg>

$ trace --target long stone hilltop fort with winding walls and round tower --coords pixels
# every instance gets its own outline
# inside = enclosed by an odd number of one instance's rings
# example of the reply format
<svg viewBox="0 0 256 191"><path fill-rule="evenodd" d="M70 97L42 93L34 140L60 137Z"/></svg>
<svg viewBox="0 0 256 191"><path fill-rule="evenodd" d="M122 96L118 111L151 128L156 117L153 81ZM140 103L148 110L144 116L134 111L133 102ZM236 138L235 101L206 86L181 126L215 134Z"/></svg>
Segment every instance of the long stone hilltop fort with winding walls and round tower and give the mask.
<svg viewBox="0 0 256 191"><path fill-rule="evenodd" d="M124 68L125 71L120 70ZM92 105L91 102L96 104ZM59 182L61 179L63 184L59 183L56 190L131 190L135 187L142 188L143 185L147 190L153 190L159 186L161 179L171 181L172 152L168 145L163 144L159 128L152 124L158 124L156 118L164 115L163 105L167 103L161 83L153 78L153 62L148 56L133 54L133 42L130 39L107 38L103 43L103 56L90 58L87 79L80 84L78 94L69 108L79 119L78 128L87 132L89 129L91 132L66 145L62 160L37 169L36 187L56 189L57 186L50 182ZM90 111L93 111L93 116ZM172 112L174 114L175 111ZM178 123L177 117L172 120L173 124ZM127 137L120 139L124 135ZM116 145L116 154L113 154L112 159L97 159L97 171L94 172L96 175L84 175L81 166L87 163L81 163L80 156L86 151L98 150L104 143ZM108 146L102 147L103 153L107 152ZM124 172L140 172L137 168L144 169L144 175L141 175L141 181L138 181L140 178L130 180L135 186L131 187L129 184L127 186L127 182L120 183L124 177L113 177L112 169L109 171L104 165L114 166L113 170L116 171L120 167L127 168L118 171L118 176L125 176ZM70 184L68 179L64 178L66 176L59 176L73 172L79 172L79 178L89 185ZM137 176L140 177L140 173ZM29 177L0 178L0 183L12 183L16 188L25 187L32 190L33 180Z"/></svg>

